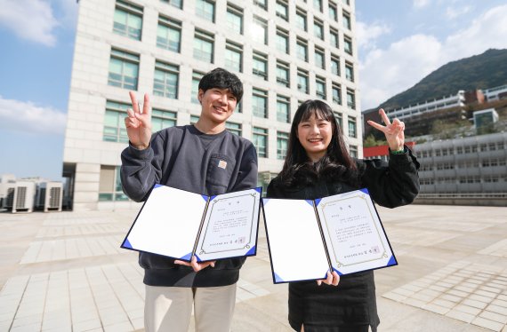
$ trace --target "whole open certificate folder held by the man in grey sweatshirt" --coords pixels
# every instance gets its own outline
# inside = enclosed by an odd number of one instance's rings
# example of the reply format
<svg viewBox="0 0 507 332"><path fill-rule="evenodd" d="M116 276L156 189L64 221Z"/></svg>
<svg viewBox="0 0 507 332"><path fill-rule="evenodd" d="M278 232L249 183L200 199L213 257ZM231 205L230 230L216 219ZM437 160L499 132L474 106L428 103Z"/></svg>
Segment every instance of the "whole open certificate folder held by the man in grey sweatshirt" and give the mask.
<svg viewBox="0 0 507 332"><path fill-rule="evenodd" d="M262 188L206 196L155 185L121 247L189 262L254 256Z"/></svg>

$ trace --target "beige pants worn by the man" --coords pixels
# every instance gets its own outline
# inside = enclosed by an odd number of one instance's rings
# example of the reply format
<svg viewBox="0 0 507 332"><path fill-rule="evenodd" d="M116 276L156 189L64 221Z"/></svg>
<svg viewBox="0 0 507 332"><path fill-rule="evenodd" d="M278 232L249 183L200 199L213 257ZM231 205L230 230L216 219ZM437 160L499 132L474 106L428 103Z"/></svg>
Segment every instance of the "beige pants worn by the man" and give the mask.
<svg viewBox="0 0 507 332"><path fill-rule="evenodd" d="M146 285L146 332L186 332L192 307L197 332L229 332L236 303L236 284L198 289Z"/></svg>

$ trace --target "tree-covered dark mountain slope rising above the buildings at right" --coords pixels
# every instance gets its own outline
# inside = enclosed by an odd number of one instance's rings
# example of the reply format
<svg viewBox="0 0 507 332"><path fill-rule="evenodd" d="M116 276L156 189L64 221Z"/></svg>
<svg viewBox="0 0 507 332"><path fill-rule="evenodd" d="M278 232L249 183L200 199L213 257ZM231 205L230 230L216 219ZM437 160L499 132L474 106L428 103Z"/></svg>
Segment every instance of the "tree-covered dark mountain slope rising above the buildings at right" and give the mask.
<svg viewBox="0 0 507 332"><path fill-rule="evenodd" d="M455 94L460 90L484 90L503 84L507 84L507 50L490 49L439 67L421 82L384 101L379 107L407 107Z"/></svg>

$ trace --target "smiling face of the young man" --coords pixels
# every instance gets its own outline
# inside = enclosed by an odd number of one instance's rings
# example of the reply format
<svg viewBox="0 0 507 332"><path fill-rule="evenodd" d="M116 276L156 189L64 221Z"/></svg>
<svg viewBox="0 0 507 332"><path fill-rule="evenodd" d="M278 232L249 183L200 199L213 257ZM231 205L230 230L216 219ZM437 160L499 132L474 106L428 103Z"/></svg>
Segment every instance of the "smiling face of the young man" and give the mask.
<svg viewBox="0 0 507 332"><path fill-rule="evenodd" d="M229 89L199 90L198 99L202 106L201 116L213 123L224 123L237 105L237 99Z"/></svg>

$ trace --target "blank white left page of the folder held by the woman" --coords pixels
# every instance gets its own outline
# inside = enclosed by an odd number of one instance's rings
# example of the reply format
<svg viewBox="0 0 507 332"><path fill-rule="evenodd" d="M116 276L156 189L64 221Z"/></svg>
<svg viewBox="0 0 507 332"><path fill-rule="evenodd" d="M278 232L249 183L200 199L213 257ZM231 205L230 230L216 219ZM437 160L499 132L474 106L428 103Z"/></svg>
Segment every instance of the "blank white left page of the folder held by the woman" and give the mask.
<svg viewBox="0 0 507 332"><path fill-rule="evenodd" d="M324 279L329 263L311 201L262 199L273 281Z"/></svg>

